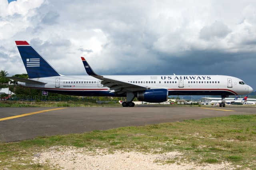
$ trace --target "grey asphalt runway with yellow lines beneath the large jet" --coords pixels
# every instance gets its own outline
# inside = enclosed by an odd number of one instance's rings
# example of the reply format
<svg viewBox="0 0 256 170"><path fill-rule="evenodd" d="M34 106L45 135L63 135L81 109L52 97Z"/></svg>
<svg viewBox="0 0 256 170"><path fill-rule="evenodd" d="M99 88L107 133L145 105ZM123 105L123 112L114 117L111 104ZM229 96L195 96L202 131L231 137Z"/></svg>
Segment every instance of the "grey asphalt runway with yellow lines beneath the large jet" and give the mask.
<svg viewBox="0 0 256 170"><path fill-rule="evenodd" d="M0 142L228 115L256 114L256 107L0 108Z"/></svg>

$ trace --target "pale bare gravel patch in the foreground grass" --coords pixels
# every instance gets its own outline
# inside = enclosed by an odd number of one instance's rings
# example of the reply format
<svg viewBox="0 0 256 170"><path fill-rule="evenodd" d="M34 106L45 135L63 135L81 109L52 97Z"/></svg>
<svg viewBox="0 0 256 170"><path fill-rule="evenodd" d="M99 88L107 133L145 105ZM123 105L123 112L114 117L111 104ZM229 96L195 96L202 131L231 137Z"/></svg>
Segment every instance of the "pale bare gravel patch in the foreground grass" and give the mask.
<svg viewBox="0 0 256 170"><path fill-rule="evenodd" d="M144 154L141 152L125 152L116 150L108 153L107 150L94 152L86 148L54 146L40 153L35 153L33 161L39 164L50 164L52 168L64 170L170 170L170 169L196 169L220 170L234 169L228 162L221 164L194 164L191 163L164 163L182 156L179 152L166 152L164 154ZM174 161L173 161L174 162Z"/></svg>

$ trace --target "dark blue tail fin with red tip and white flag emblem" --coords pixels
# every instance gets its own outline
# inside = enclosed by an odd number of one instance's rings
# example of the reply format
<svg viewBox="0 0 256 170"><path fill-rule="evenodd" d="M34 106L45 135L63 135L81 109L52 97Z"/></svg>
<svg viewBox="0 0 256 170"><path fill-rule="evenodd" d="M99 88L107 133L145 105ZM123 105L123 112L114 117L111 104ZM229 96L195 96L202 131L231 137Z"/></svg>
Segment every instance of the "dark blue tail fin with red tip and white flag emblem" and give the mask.
<svg viewBox="0 0 256 170"><path fill-rule="evenodd" d="M30 79L60 75L28 42L15 43Z"/></svg>

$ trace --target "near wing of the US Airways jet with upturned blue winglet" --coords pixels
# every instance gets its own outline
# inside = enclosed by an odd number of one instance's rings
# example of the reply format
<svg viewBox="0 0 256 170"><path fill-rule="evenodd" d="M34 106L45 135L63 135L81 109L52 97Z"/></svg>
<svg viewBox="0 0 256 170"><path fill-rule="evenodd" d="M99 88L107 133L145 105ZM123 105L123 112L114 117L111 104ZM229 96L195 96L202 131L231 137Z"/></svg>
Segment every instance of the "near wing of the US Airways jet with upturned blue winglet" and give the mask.
<svg viewBox="0 0 256 170"><path fill-rule="evenodd" d="M140 91L140 90L150 89L147 86L135 85L126 81L120 81L117 79L112 79L112 78L104 77L102 75L98 75L92 70L92 68L90 67L90 65L88 64L88 62L84 57L81 57L81 59L83 61L86 73L92 77L102 80L101 81L102 87L110 88L110 93L118 92L121 94L122 92L126 92L126 91Z"/></svg>

